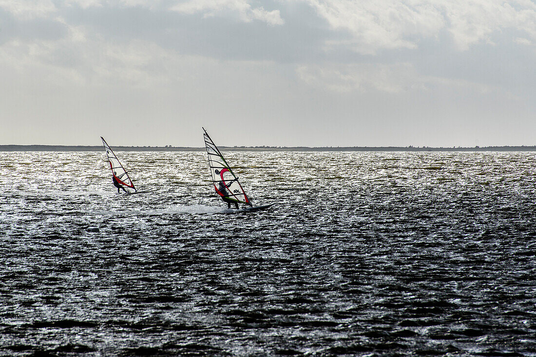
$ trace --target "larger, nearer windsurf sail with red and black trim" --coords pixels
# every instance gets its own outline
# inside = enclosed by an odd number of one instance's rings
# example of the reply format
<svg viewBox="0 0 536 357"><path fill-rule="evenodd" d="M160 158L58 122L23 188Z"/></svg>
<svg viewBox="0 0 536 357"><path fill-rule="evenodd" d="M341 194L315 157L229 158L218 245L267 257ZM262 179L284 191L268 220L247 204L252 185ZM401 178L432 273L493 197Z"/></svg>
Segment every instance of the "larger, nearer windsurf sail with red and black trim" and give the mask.
<svg viewBox="0 0 536 357"><path fill-rule="evenodd" d="M220 150L214 144L205 128L203 128L203 131L205 132L206 152L209 154L212 183L214 184L216 193L220 195L221 198L253 206L249 201L248 196L245 194L244 189L240 186L238 177L233 170L231 170L229 164L225 161L224 156L221 155Z"/></svg>

